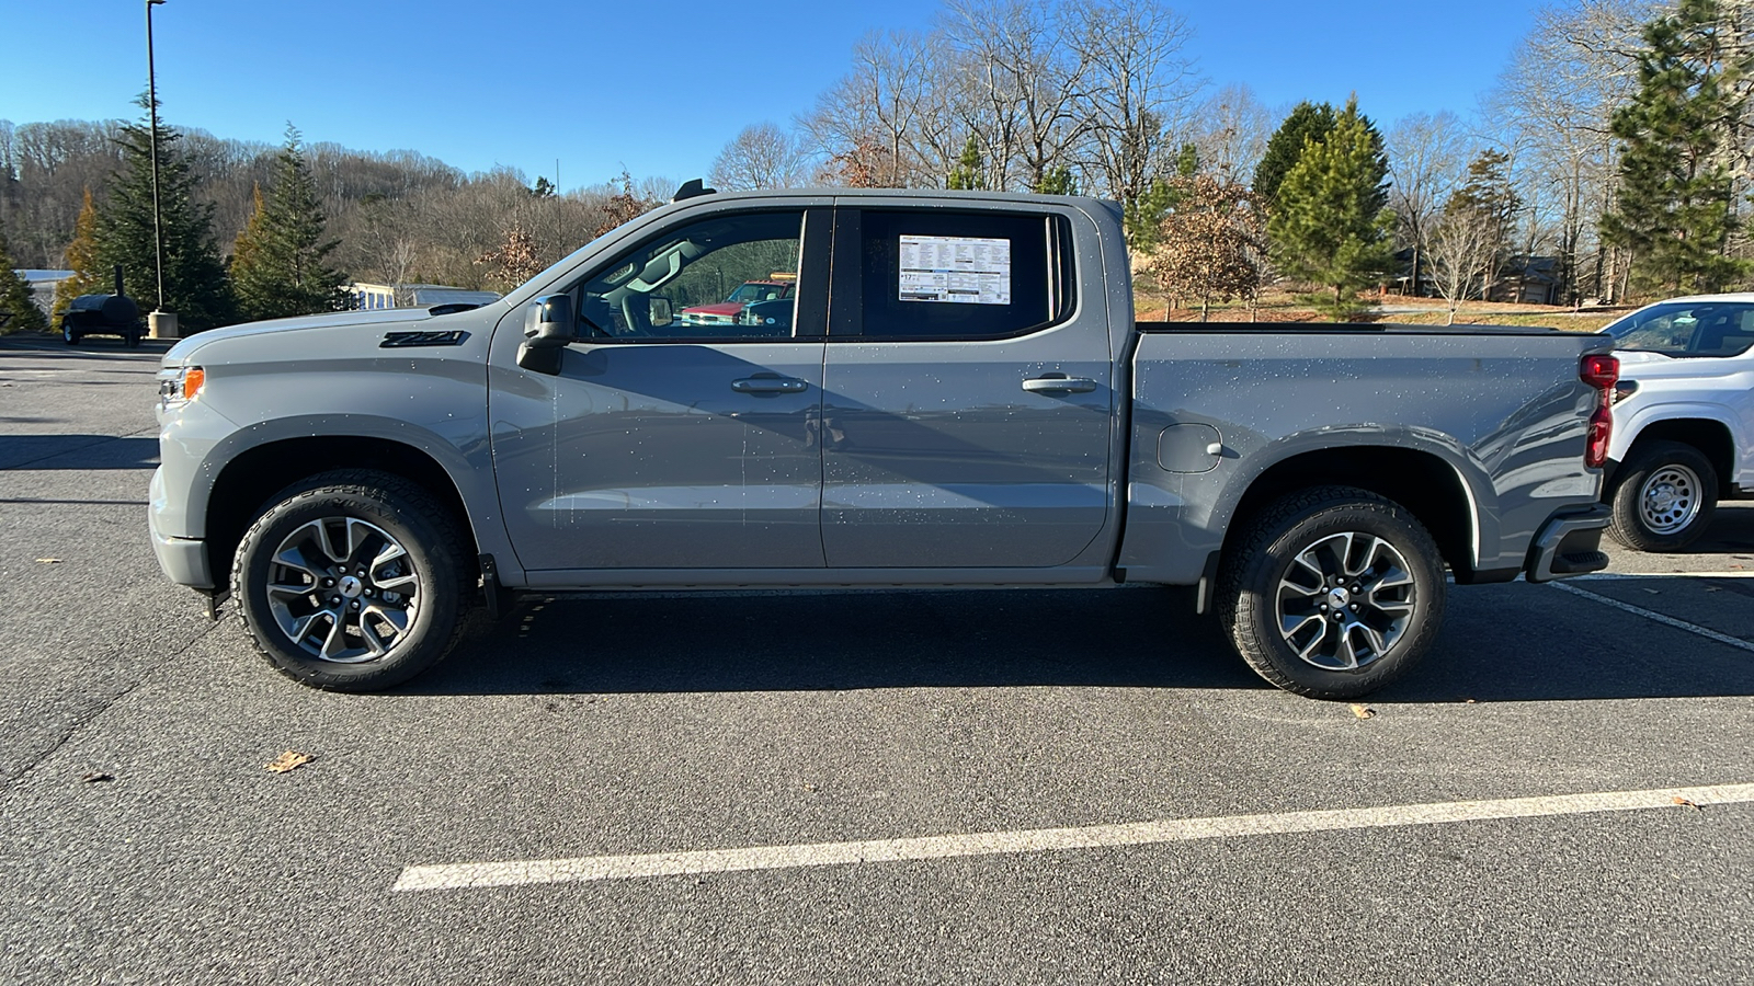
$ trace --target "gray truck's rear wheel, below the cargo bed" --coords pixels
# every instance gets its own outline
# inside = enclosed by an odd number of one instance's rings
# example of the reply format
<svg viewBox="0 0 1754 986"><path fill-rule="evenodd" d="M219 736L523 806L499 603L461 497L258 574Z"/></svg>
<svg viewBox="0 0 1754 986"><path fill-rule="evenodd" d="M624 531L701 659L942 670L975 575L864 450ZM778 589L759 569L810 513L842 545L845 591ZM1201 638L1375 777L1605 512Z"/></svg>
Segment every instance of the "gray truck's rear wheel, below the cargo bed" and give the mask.
<svg viewBox="0 0 1754 986"><path fill-rule="evenodd" d="M1358 535L1377 540L1361 542ZM1335 551L1340 556L1333 568L1352 572L1356 560L1356 574L1333 589L1301 588L1305 581L1328 582L1298 556ZM1398 572L1408 581L1401 582ZM1237 653L1273 686L1310 698L1358 698L1407 674L1431 649L1445 595L1437 542L1405 507L1365 489L1317 486L1252 518L1219 568L1217 609ZM1335 600L1342 605L1331 605ZM1330 635L1335 609L1342 611L1337 619L1344 630ZM1287 639L1282 619L1298 616L1298 632ZM1293 640L1310 640L1303 647L1308 660ZM1375 642L1382 642L1380 653ZM1359 644L1368 654L1358 653ZM1326 647L1337 654L1326 656ZM1347 658L1352 667L1345 667Z"/></svg>

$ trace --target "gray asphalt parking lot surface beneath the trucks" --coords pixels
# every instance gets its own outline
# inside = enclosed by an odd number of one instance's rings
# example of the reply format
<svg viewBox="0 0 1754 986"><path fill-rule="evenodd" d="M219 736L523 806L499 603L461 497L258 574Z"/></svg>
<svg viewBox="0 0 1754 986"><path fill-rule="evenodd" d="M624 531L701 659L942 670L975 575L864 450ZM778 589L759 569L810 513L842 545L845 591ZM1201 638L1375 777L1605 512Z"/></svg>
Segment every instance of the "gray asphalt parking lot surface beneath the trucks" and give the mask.
<svg viewBox="0 0 1754 986"><path fill-rule="evenodd" d="M154 367L0 340L0 982L1754 981L1754 504L1361 709L1163 589L531 600L324 695L160 575Z"/></svg>

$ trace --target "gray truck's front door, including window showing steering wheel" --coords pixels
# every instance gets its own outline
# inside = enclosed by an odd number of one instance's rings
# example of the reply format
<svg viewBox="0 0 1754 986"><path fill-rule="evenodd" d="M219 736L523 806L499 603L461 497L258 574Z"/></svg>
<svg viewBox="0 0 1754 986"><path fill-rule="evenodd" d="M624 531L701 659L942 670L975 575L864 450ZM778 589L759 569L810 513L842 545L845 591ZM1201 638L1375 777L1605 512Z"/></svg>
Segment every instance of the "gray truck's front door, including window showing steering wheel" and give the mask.
<svg viewBox="0 0 1754 986"><path fill-rule="evenodd" d="M826 211L674 226L574 286L558 375L496 340L493 460L526 570L823 565L826 239ZM745 302L749 282L796 289Z"/></svg>

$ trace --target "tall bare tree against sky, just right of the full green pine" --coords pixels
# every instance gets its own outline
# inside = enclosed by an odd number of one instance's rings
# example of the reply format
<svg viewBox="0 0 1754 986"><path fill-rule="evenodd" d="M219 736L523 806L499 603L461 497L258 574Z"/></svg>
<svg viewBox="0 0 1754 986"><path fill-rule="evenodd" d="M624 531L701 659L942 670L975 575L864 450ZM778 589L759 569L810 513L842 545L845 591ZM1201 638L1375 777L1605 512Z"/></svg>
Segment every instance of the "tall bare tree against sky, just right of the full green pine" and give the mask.
<svg viewBox="0 0 1754 986"><path fill-rule="evenodd" d="M1389 209L1401 246L1412 249L1412 291L1419 293L1431 225L1442 204L1463 181L1473 151L1463 123L1452 112L1401 118L1387 135Z"/></svg>

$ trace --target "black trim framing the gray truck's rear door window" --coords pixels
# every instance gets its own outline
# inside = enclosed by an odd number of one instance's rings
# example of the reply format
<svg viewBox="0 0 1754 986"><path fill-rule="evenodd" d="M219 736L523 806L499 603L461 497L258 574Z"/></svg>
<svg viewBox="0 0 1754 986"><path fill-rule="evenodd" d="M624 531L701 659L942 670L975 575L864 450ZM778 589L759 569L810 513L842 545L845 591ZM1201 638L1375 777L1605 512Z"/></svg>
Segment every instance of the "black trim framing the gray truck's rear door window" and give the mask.
<svg viewBox="0 0 1754 986"><path fill-rule="evenodd" d="M907 212L907 207L881 209ZM1072 225L1059 212L1009 212L980 209L982 214L1042 218L1047 225L1047 321L1002 335L865 335L865 209L835 207L833 260L830 277L828 342L1002 342L1024 339L1072 321L1077 311L1077 258L1072 256Z"/></svg>

